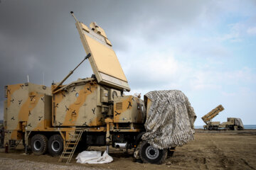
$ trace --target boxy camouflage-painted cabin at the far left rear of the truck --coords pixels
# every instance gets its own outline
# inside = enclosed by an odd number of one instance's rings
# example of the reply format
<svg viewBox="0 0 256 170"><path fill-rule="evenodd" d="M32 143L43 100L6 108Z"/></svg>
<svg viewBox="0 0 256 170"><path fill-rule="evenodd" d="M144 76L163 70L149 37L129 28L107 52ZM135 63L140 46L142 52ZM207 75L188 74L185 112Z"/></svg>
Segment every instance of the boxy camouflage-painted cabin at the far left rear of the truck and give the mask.
<svg viewBox="0 0 256 170"><path fill-rule="evenodd" d="M21 140L26 130L40 130L50 126L50 88L37 84L6 86L4 124L9 137Z"/></svg>

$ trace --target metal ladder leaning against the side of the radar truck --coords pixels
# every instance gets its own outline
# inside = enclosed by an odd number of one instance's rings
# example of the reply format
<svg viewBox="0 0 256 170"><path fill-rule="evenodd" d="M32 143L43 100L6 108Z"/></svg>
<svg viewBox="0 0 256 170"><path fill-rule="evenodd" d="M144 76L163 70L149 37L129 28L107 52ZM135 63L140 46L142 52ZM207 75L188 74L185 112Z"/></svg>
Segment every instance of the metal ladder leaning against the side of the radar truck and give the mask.
<svg viewBox="0 0 256 170"><path fill-rule="evenodd" d="M75 152L76 147L78 146L78 142L82 137L83 130L75 130L73 134L70 134L70 139L66 142L66 145L63 149L62 154L60 155L60 159L58 162L62 162L63 159L67 159L66 164L70 162Z"/></svg>

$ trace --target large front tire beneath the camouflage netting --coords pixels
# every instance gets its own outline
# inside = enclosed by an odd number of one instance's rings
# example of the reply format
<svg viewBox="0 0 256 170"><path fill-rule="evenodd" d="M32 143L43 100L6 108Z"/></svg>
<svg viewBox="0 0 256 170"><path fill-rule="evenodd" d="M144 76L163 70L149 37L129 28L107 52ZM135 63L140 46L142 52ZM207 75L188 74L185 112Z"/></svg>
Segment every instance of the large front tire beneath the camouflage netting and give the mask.
<svg viewBox="0 0 256 170"><path fill-rule="evenodd" d="M163 164L167 157L167 149L156 149L151 147L148 142L142 141L139 157L144 163Z"/></svg>

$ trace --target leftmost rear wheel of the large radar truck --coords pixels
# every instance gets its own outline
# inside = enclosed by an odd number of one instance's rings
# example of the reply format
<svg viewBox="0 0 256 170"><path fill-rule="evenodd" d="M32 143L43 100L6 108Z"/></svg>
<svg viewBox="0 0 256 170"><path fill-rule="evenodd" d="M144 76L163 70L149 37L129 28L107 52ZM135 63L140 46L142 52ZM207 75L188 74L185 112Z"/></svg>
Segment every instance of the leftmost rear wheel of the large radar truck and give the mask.
<svg viewBox="0 0 256 170"><path fill-rule="evenodd" d="M41 134L34 135L31 138L31 149L33 154L45 154L47 149L47 137Z"/></svg>

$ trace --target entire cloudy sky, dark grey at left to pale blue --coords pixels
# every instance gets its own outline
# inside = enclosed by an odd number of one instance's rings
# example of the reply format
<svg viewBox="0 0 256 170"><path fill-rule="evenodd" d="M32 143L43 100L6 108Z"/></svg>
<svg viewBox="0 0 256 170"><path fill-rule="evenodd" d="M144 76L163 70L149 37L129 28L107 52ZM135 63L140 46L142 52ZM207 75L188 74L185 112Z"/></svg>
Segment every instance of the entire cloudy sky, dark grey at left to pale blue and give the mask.
<svg viewBox="0 0 256 170"><path fill-rule="evenodd" d="M198 119L223 104L215 120L256 124L256 1L0 0L0 119L4 86L29 80L50 86L85 51L74 11L96 21L112 41L130 94L180 89ZM85 62L69 81L90 77Z"/></svg>

